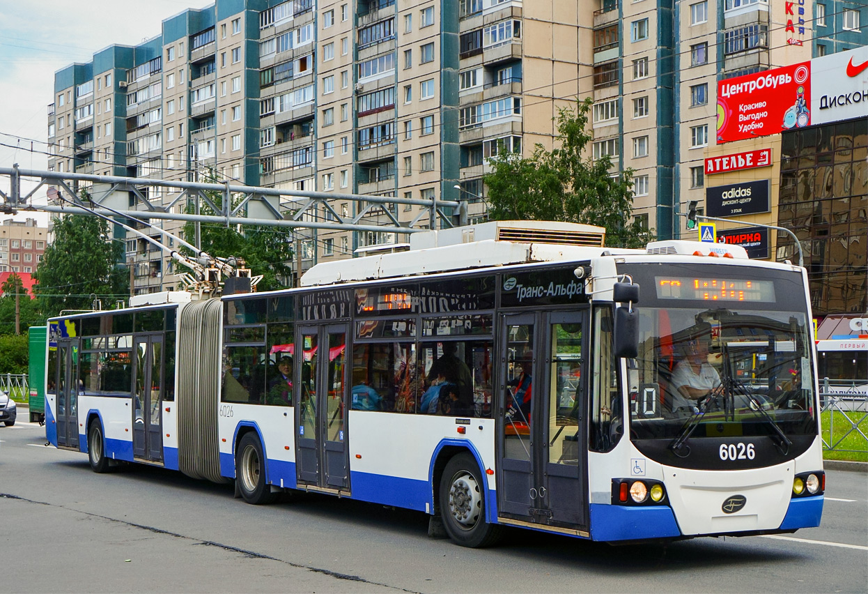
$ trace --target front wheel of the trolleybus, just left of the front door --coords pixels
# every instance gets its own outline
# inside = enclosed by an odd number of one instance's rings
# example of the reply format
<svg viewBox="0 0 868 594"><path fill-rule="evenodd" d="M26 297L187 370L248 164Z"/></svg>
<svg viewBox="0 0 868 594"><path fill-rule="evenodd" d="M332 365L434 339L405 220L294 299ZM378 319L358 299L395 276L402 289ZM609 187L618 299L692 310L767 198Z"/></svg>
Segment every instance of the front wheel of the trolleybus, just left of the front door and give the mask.
<svg viewBox="0 0 868 594"><path fill-rule="evenodd" d="M454 456L440 479L440 514L446 533L457 545L482 548L500 538L500 526L485 521L482 472L468 452Z"/></svg>

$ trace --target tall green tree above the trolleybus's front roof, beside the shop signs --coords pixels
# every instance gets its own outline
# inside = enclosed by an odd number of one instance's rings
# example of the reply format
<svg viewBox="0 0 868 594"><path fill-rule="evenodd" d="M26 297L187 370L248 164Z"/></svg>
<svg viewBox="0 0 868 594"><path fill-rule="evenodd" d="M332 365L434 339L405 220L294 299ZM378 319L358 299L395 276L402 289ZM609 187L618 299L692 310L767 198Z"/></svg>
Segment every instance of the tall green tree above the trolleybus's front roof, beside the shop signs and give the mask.
<svg viewBox="0 0 868 594"><path fill-rule="evenodd" d="M533 154L521 158L504 153L490 158L489 216L504 221L568 221L606 228L606 243L616 247L644 247L652 234L638 221L633 210L633 171L609 174L608 155L585 157L593 139L588 114L592 101L576 101L575 109L558 109L557 147L546 150L537 144Z"/></svg>

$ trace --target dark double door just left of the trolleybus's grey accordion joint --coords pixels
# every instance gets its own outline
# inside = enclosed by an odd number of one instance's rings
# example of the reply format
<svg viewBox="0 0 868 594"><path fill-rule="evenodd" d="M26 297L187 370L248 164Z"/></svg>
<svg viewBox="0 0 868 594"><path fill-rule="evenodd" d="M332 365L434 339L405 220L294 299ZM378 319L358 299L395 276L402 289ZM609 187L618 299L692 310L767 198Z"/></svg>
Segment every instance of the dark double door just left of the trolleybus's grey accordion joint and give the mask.
<svg viewBox="0 0 868 594"><path fill-rule="evenodd" d="M162 337L133 340L133 457L162 462Z"/></svg>

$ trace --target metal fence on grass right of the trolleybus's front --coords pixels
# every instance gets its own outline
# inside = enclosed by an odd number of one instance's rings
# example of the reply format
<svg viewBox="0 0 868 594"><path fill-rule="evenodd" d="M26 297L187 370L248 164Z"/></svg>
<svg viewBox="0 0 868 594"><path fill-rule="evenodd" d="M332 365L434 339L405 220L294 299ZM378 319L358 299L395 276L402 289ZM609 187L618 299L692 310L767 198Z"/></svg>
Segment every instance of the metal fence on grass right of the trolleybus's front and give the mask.
<svg viewBox="0 0 868 594"><path fill-rule="evenodd" d="M823 438L823 449L827 452L868 452L868 435L859 427L868 419L868 380L842 382L825 378L819 385L819 397L822 411L829 413L829 436L828 440L825 436ZM843 431L843 434L836 436L836 431ZM865 440L865 446L858 450L845 449L845 439L858 435Z"/></svg>

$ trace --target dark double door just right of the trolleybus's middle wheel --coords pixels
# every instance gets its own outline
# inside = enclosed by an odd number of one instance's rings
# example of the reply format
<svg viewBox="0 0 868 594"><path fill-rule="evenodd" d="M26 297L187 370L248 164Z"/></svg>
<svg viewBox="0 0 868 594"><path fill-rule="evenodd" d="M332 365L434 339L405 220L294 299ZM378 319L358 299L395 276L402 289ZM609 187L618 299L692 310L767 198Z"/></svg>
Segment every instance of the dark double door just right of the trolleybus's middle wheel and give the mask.
<svg viewBox="0 0 868 594"><path fill-rule="evenodd" d="M330 491L350 489L346 427L346 327L299 328L295 357L296 472L302 485Z"/></svg>

